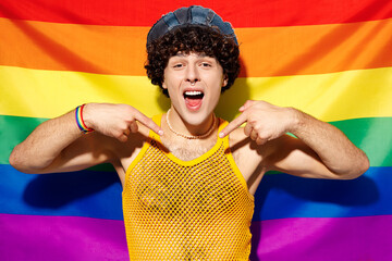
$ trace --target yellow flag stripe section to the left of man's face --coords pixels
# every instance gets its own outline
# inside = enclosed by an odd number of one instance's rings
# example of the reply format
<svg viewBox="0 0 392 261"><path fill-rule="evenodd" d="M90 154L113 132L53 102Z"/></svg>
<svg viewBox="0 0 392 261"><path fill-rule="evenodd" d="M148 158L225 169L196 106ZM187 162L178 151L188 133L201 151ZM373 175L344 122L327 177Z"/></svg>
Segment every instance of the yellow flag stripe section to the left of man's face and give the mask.
<svg viewBox="0 0 392 261"><path fill-rule="evenodd" d="M128 103L147 115L168 104L144 76L99 75L0 66L0 114L54 117L87 102Z"/></svg>

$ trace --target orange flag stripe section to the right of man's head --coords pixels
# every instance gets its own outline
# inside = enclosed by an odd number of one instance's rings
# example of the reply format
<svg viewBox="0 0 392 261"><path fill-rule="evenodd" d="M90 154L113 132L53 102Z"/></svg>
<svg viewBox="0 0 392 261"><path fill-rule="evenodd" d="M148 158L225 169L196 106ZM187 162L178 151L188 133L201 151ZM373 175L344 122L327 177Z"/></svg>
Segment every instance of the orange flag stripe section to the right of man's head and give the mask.
<svg viewBox="0 0 392 261"><path fill-rule="evenodd" d="M335 73L392 65L392 20L244 28L237 33L246 76Z"/></svg>

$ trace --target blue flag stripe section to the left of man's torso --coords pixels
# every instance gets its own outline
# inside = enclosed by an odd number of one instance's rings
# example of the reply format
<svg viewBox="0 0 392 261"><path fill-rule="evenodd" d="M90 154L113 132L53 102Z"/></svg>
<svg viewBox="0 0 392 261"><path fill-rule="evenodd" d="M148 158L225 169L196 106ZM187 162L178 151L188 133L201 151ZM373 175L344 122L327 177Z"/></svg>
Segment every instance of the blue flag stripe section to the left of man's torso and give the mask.
<svg viewBox="0 0 392 261"><path fill-rule="evenodd" d="M34 175L0 165L0 213L122 220L121 192L113 172Z"/></svg>

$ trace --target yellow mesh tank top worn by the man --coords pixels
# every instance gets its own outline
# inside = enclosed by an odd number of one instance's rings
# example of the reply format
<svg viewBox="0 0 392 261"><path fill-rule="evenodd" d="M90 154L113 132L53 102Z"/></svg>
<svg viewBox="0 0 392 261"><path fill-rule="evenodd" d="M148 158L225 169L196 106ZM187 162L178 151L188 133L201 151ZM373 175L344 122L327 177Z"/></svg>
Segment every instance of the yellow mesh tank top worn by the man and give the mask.
<svg viewBox="0 0 392 261"><path fill-rule="evenodd" d="M160 125L161 115L152 119ZM220 121L220 129L226 122ZM123 214L131 260L248 260L254 198L229 138L182 161L150 132L126 172Z"/></svg>

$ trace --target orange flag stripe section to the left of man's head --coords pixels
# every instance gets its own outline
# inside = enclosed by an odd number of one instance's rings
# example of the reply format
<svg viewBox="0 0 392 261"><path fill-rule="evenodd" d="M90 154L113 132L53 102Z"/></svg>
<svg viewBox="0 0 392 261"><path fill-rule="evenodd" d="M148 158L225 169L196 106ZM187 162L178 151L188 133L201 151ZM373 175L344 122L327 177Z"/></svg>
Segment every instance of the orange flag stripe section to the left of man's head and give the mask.
<svg viewBox="0 0 392 261"><path fill-rule="evenodd" d="M0 18L0 64L97 74L145 75L146 27Z"/></svg>

